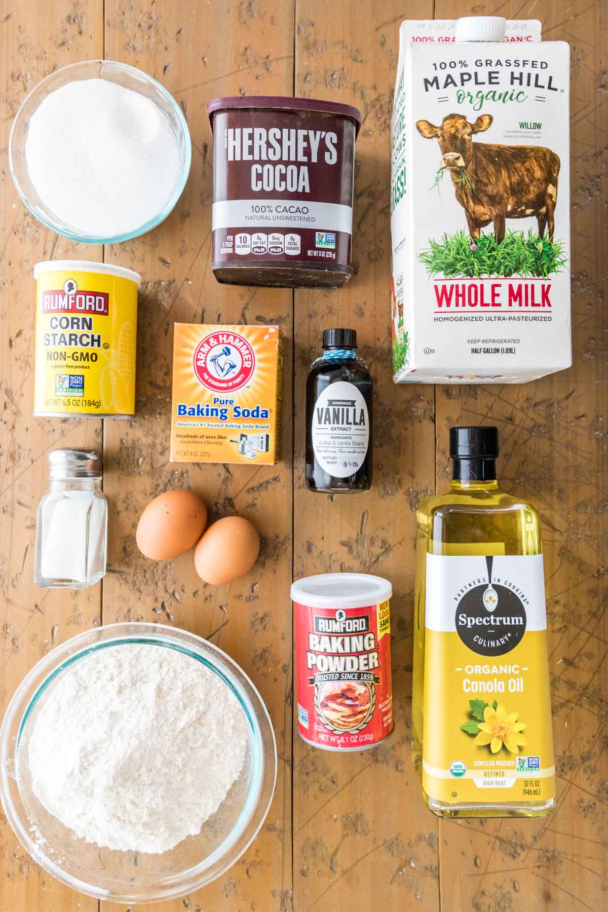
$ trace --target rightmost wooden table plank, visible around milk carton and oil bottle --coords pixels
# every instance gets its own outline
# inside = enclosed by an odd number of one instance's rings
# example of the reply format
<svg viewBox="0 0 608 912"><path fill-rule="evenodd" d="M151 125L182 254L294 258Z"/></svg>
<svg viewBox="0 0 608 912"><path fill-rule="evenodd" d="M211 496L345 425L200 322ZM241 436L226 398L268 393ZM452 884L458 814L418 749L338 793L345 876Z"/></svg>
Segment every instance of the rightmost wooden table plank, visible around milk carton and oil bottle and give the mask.
<svg viewBox="0 0 608 912"><path fill-rule="evenodd" d="M484 3L491 15L522 16L520 4ZM436 16L469 15L439 0ZM445 907L532 907L574 912L605 907L606 761L606 337L608 253L606 8L553 2L531 7L547 40L572 49L572 323L568 371L524 386L442 387L437 398L438 488L448 484L448 427L500 430L500 478L541 509L550 630L558 806L543 821L442 822Z"/></svg>

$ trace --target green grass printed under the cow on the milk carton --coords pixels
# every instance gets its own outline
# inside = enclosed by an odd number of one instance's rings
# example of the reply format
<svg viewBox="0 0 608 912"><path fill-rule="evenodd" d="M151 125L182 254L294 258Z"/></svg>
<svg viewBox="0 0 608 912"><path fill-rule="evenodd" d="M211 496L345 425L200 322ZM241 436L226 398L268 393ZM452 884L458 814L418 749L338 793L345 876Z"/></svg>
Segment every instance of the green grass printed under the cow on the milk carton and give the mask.
<svg viewBox="0 0 608 912"><path fill-rule="evenodd" d="M418 254L429 275L454 278L462 275L477 278L481 275L520 275L545 278L559 273L567 263L561 241L541 238L530 230L508 231L502 244L493 234L481 234L476 242L468 233L458 231L444 234L439 241L429 240L428 250Z"/></svg>

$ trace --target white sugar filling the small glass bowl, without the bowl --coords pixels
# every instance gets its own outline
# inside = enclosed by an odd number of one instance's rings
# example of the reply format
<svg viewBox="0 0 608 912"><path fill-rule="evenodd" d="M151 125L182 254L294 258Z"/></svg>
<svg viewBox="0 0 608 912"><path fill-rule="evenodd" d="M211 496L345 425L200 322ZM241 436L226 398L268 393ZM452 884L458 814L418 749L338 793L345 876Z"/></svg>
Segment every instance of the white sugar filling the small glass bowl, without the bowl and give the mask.
<svg viewBox="0 0 608 912"><path fill-rule="evenodd" d="M153 101L108 79L68 82L29 122L29 176L76 233L137 230L169 202L180 177L178 140Z"/></svg>

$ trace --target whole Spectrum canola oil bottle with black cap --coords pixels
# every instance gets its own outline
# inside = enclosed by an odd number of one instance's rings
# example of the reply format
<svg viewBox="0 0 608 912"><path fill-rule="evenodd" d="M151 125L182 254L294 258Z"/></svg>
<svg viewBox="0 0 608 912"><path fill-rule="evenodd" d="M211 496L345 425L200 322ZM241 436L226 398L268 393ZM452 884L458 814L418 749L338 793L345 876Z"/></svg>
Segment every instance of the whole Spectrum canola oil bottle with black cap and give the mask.
<svg viewBox="0 0 608 912"><path fill-rule="evenodd" d="M414 762L441 817L555 804L539 516L500 491L496 428L452 428L449 491L417 510Z"/></svg>

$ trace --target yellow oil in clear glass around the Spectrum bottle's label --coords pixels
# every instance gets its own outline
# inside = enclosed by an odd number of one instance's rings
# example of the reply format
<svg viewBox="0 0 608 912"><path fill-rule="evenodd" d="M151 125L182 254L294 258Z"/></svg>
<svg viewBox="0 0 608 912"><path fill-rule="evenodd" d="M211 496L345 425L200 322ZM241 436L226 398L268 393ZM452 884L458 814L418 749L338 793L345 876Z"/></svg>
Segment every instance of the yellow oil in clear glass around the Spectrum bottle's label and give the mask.
<svg viewBox="0 0 608 912"><path fill-rule="evenodd" d="M417 509L417 573L414 616L413 757L422 783L425 681L425 604L427 554L541 554L539 515L530 503L500 491L498 482L451 482L447 493L428 497ZM427 669L432 674L433 669ZM424 792L424 790L423 790ZM424 793L440 817L543 817L554 799L544 802L448 804Z"/></svg>

